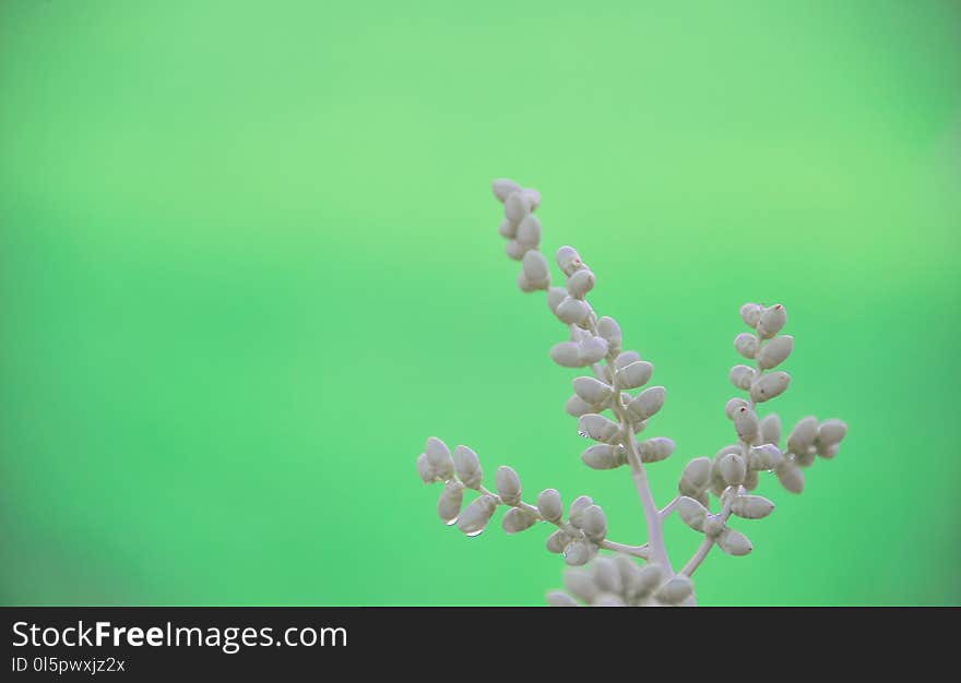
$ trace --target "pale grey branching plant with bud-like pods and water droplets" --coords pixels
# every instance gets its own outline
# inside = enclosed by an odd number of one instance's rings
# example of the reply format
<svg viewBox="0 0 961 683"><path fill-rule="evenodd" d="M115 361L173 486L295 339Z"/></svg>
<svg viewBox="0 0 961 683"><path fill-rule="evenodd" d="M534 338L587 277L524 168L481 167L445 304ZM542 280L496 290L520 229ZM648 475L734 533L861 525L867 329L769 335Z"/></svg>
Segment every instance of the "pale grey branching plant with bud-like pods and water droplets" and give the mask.
<svg viewBox="0 0 961 683"><path fill-rule="evenodd" d="M496 470L495 491L490 491L483 484L484 471L474 451L459 445L451 454L446 443L431 436L417 458L417 471L425 483L444 484L438 516L466 536L482 534L500 506L508 507L502 522L508 534L538 523L556 527L547 539L547 550L561 555L572 568L565 575L566 591L548 592L548 604L695 604L691 575L714 546L729 555L746 555L754 548L747 536L728 526L731 517L761 519L773 512L771 501L749 493L757 488L759 476L773 472L787 491L800 493L804 469L818 457L833 458L847 426L835 419L803 418L782 448L781 420L773 414L762 419L758 406L791 384L788 373L774 369L793 352L794 337L780 334L787 323L782 304L746 303L740 317L751 331L739 333L734 348L749 363L735 364L729 372L732 384L746 396L731 398L725 406L737 442L722 447L713 458L692 458L680 475L678 495L659 510L645 466L667 459L676 444L666 436L638 439L666 399L663 386L642 388L651 381L654 366L637 351L622 348L624 334L616 320L594 312L586 297L597 277L574 248L557 251L555 260L566 281L563 287L551 286L550 268L541 252L543 226L534 216L541 193L498 179L494 194L503 204L499 232L508 240L507 254L521 262L518 287L524 292L544 290L550 311L568 328L569 338L550 348L550 358L563 368L590 373L573 380L574 394L565 404L565 410L578 418L580 435L596 442L584 450L581 459L593 469L629 467L641 499L648 541L628 546L609 540L604 510L588 495L571 502L566 519L561 495L555 489L543 490L536 504L524 502L521 479L508 466ZM642 391L637 395L629 393L638 388ZM464 494L470 490L477 495L464 506ZM711 510L712 493L717 499L716 512ZM697 552L677 571L663 535L664 520L673 512L703 536ZM601 550L612 551L614 556L598 555Z"/></svg>

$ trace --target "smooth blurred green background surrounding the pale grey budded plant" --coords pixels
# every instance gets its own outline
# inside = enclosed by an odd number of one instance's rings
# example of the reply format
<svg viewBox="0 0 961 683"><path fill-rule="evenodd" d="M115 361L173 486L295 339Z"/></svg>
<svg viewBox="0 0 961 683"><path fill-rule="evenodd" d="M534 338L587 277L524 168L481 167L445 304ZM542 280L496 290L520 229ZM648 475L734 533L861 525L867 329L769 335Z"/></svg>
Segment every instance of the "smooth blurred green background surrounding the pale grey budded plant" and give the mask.
<svg viewBox="0 0 961 683"><path fill-rule="evenodd" d="M542 604L546 529L443 527L430 434L641 542L510 176L668 388L659 502L733 438L745 301L788 310L786 428L851 426L702 603L961 602L959 38L951 0L4 0L0 601Z"/></svg>

